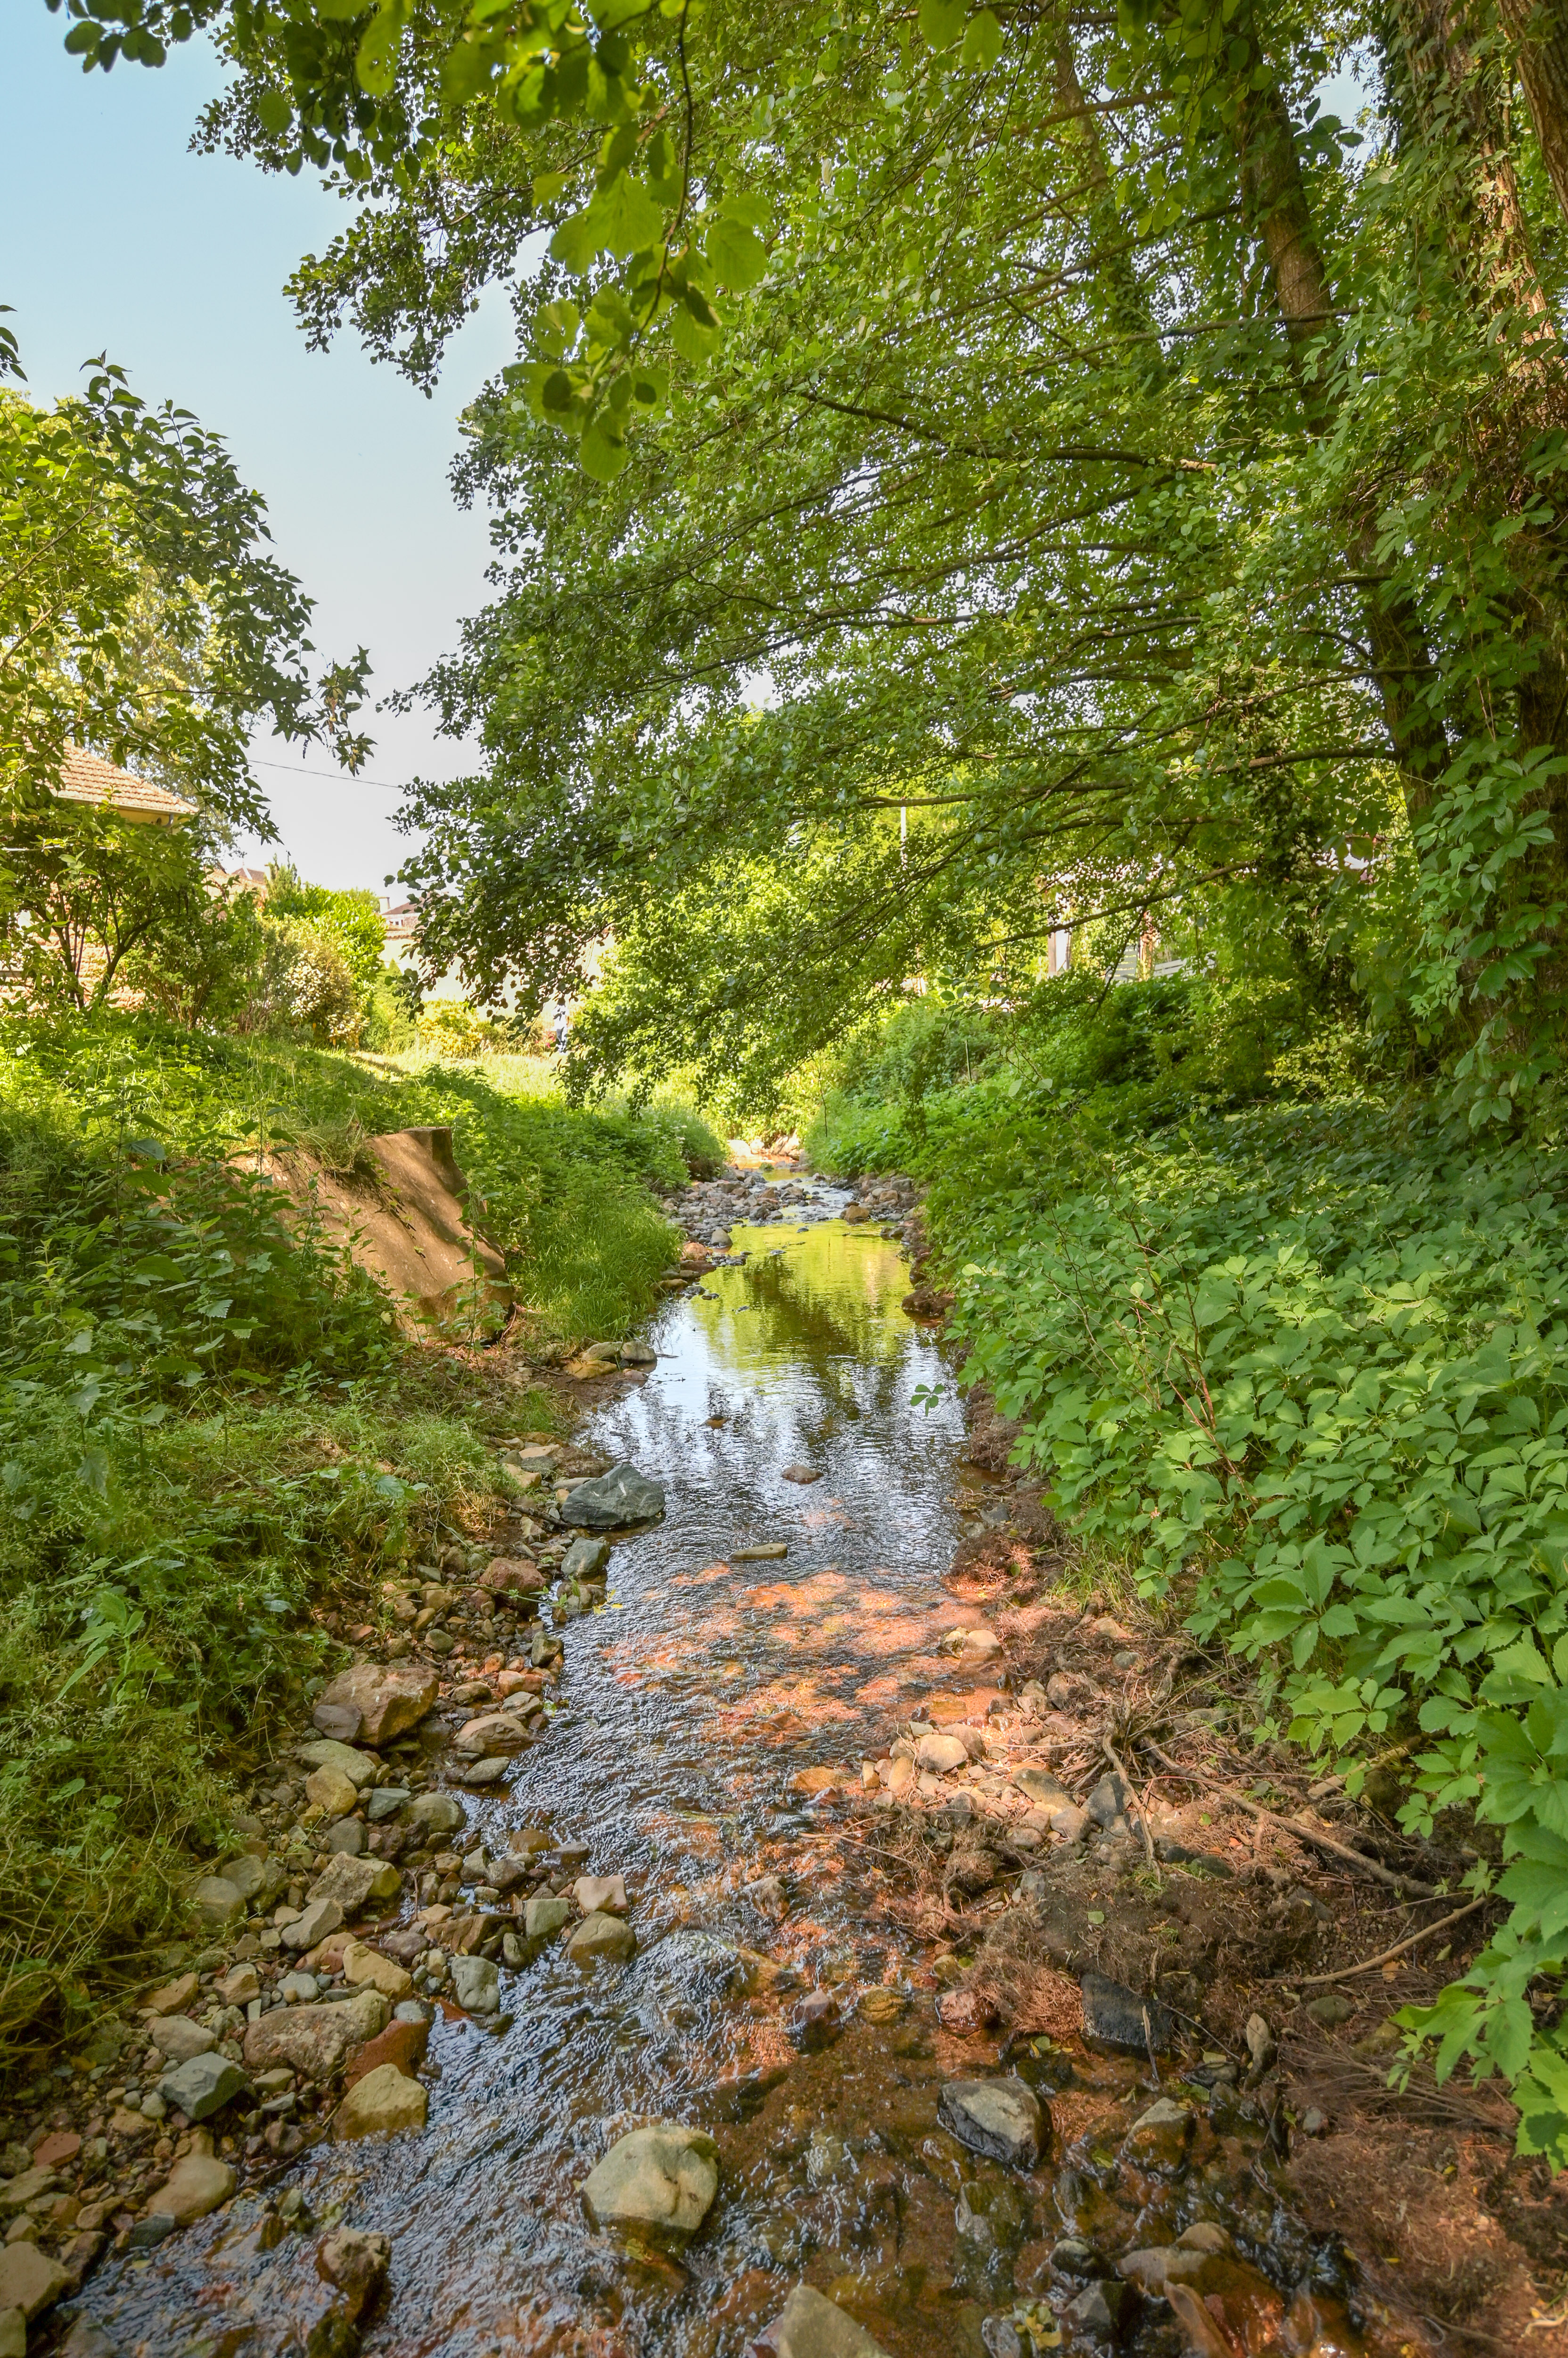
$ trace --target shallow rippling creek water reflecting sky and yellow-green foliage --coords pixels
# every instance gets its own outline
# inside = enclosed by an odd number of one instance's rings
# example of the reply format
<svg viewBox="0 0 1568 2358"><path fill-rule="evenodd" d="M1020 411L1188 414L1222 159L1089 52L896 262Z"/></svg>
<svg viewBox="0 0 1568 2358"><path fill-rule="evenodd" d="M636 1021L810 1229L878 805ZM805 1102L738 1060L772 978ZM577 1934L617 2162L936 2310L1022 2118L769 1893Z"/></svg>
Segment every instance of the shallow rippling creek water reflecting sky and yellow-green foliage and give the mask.
<svg viewBox="0 0 1568 2358"><path fill-rule="evenodd" d="M920 1945L865 1882L856 1844L875 1844L877 1820L835 1832L792 1785L811 1764L884 1752L891 1719L953 1684L934 1641L964 1615L941 1575L983 1476L960 1464L950 1370L901 1311L908 1273L875 1231L818 1219L738 1229L736 1245L745 1266L660 1313L658 1365L582 1431L667 1486L665 1521L615 1547L608 1606L564 1627L568 1714L505 1794L467 1797L493 1851L505 1830L545 1825L585 1844L594 1872L625 1872L637 1957L582 1974L545 1948L502 1976L502 2028L436 2018L422 2136L325 2143L274 2186L297 2186L318 2221L391 2238L389 2297L365 2332L389 2358L722 2358L813 2261L818 2283L858 2280L856 2306L898 2358L979 2358L981 2320L1012 2287L981 2250L983 2221L955 2259L960 2186L993 2184L1016 2209L997 2247L1045 2235L1042 2259L1061 2233L1047 2174L1009 2191L936 2132L941 2080L995 2068L995 2047L941 2033ZM795 1486L790 1464L823 1478ZM785 1561L729 1561L769 1540L788 1542ZM783 1922L745 1893L764 1875L783 1879ZM785 2037L792 1993L823 1985L846 2023L802 2056ZM858 2014L875 1985L905 1993L905 2011ZM1132 2066L1106 2068L1132 2087ZM646 2117L719 2143L719 2200L684 2268L627 2261L578 2200L613 2136ZM257 2238L255 2219L255 2202L233 2205L113 2261L83 2306L125 2358L292 2346L314 2238L278 2242L276 2221Z"/></svg>

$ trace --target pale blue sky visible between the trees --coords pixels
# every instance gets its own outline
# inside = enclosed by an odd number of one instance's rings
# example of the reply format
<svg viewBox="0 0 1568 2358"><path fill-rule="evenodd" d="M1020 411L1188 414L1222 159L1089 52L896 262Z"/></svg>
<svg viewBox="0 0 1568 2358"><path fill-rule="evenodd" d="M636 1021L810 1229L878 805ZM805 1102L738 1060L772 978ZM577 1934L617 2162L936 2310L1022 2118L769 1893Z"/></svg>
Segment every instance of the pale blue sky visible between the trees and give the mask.
<svg viewBox="0 0 1568 2358"><path fill-rule="evenodd" d="M316 646L363 641L375 693L410 684L486 594L486 519L453 502L446 469L457 413L512 349L502 290L453 344L434 401L373 365L354 332L307 351L283 281L347 210L307 174L189 153L217 87L205 45L156 73L85 75L61 33L42 0L2 0L0 302L31 391L66 391L108 351L137 391L196 410L264 495L278 556L316 599ZM462 769L422 719L368 726L375 778ZM389 825L396 792L344 780L321 752L257 755L288 764L257 778L299 868L380 891L408 849ZM302 759L328 773L302 776Z"/></svg>

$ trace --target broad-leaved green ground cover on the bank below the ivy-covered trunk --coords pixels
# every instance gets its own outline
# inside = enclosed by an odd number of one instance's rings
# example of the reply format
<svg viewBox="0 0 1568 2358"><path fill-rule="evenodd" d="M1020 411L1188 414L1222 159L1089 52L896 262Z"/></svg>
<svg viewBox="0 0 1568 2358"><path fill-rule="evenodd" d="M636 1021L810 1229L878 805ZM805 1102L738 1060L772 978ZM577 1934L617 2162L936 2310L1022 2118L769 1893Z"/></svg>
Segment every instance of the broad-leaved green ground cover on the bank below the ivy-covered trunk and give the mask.
<svg viewBox="0 0 1568 2358"><path fill-rule="evenodd" d="M1568 1151L1419 1099L1217 1101L1186 986L936 1012L811 1151L929 1179L967 1379L1087 1549L1257 1662L1264 1735L1474 1813L1511 1912L1436 2009L1568 2165ZM1186 1066L1186 1073L1184 1073Z"/></svg>

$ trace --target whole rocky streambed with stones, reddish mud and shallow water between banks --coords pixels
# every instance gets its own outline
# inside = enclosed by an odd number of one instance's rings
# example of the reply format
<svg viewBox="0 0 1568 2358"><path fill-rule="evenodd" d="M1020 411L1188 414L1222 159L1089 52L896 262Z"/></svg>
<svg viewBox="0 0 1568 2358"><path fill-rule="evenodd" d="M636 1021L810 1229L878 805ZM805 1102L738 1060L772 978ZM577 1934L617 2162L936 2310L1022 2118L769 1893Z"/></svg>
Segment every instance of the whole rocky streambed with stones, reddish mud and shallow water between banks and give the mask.
<svg viewBox="0 0 1568 2358"><path fill-rule="evenodd" d="M913 1188L679 1210L573 1448L495 1436L507 1523L278 1738L210 1945L21 2092L0 2308L73 2358L1549 2358L1497 2122L1424 2181L1462 2318L1375 2209L1325 2056L1382 2087L1391 1993L1306 1988L1386 1941L1363 1816L1231 1799L1224 1686L1070 1594L901 1306Z"/></svg>

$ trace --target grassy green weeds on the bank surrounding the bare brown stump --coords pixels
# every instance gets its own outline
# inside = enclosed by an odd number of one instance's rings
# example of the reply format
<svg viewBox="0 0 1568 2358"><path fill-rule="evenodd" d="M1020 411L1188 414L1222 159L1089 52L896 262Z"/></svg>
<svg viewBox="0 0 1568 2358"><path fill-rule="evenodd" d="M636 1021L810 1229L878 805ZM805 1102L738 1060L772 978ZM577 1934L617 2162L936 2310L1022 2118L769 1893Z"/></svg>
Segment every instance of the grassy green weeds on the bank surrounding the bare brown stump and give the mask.
<svg viewBox="0 0 1568 2358"><path fill-rule="evenodd" d="M278 1144L342 1170L415 1122L455 1127L521 1351L403 1344L252 1170ZM382 1575L486 1516L486 1434L552 1422L528 1361L648 1309L672 1245L648 1181L719 1153L681 1111L573 1113L521 1059L0 1026L0 2054L184 1929L226 1761Z"/></svg>

